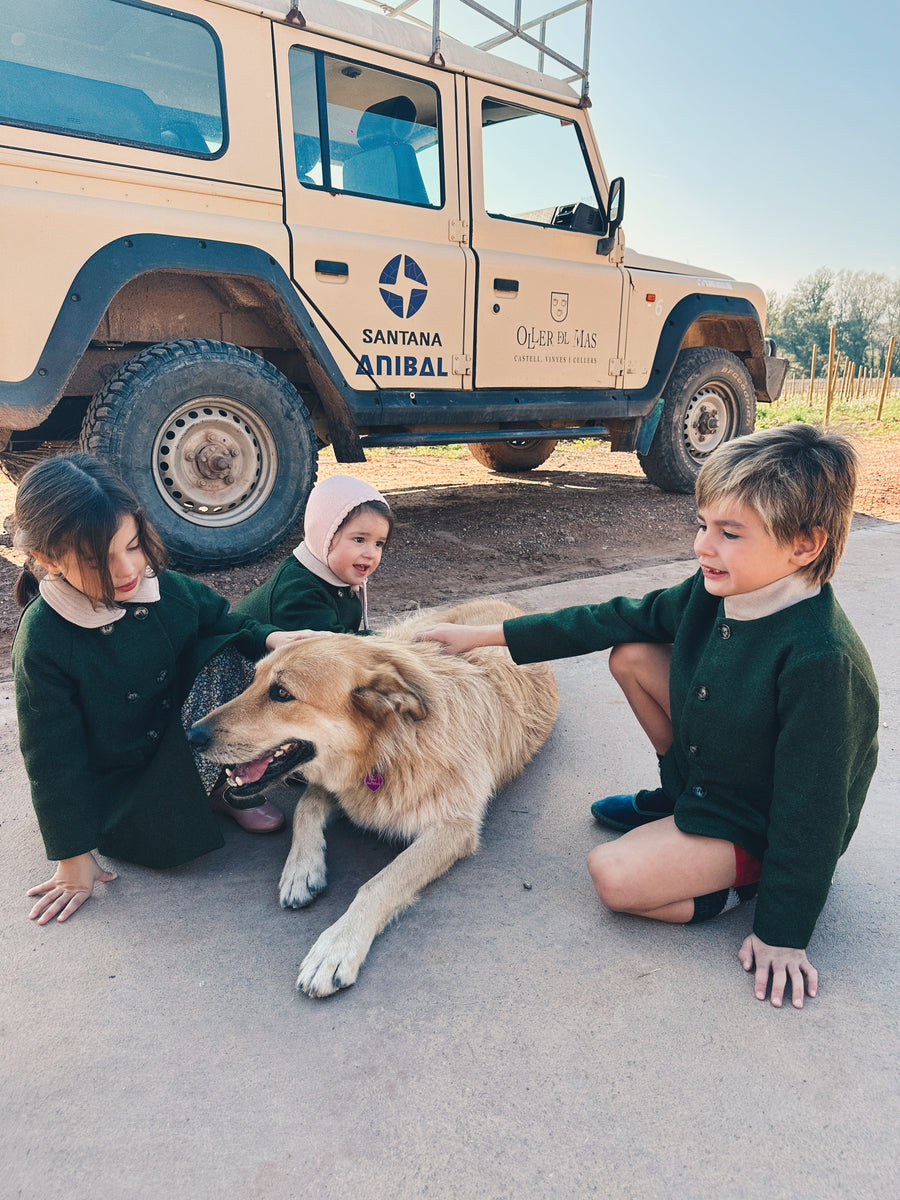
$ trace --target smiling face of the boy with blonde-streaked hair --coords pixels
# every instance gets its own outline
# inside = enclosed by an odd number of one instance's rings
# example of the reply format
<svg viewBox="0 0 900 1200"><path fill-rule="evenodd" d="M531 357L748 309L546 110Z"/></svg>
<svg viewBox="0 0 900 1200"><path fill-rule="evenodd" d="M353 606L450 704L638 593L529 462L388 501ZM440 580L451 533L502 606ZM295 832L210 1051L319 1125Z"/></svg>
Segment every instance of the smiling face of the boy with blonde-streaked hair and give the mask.
<svg viewBox="0 0 900 1200"><path fill-rule="evenodd" d="M793 575L810 560L802 535L788 544L776 541L760 515L737 500L726 498L707 505L697 514L697 524L694 553L712 595L755 592Z"/></svg>

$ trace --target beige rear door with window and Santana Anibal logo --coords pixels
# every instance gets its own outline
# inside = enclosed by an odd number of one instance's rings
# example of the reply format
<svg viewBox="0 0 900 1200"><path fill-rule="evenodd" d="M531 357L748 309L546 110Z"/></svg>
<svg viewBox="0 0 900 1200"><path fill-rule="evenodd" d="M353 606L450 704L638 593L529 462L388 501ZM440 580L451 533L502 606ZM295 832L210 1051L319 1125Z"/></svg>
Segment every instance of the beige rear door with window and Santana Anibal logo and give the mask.
<svg viewBox="0 0 900 1200"><path fill-rule="evenodd" d="M293 278L344 379L470 385L454 79L275 34Z"/></svg>

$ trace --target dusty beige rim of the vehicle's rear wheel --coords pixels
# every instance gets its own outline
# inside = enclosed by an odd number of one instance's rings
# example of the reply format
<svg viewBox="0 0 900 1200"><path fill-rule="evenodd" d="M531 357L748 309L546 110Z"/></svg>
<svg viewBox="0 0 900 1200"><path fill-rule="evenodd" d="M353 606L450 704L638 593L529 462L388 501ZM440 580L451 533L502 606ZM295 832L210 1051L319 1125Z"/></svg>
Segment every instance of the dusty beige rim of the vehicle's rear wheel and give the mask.
<svg viewBox="0 0 900 1200"><path fill-rule="evenodd" d="M230 397L182 404L154 442L154 482L168 506L193 524L246 521L271 494L277 467L269 427Z"/></svg>

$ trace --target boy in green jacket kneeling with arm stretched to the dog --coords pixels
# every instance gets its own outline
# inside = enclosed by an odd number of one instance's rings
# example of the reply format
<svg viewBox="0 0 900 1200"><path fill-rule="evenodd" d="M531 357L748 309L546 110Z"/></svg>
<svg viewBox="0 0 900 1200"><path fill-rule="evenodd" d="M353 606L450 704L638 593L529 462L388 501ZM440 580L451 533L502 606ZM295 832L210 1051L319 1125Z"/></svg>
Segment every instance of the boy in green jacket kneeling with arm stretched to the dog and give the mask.
<svg viewBox="0 0 900 1200"><path fill-rule="evenodd" d="M516 662L613 647L610 670L660 758L661 787L596 800L625 830L588 859L613 911L690 924L758 899L738 958L755 992L815 996L805 947L877 757L869 655L828 580L853 512L856 452L810 425L721 445L696 496L700 570L641 600L436 625L454 653Z"/></svg>

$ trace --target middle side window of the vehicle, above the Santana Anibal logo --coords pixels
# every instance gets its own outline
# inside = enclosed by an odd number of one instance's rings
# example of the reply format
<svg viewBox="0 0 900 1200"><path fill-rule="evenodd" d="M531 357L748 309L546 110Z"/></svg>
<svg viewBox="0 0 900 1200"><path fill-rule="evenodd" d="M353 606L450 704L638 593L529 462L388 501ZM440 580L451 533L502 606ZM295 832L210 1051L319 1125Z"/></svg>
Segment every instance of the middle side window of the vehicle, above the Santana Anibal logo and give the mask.
<svg viewBox="0 0 900 1200"><path fill-rule="evenodd" d="M430 84L301 47L289 55L296 176L306 187L440 208Z"/></svg>

